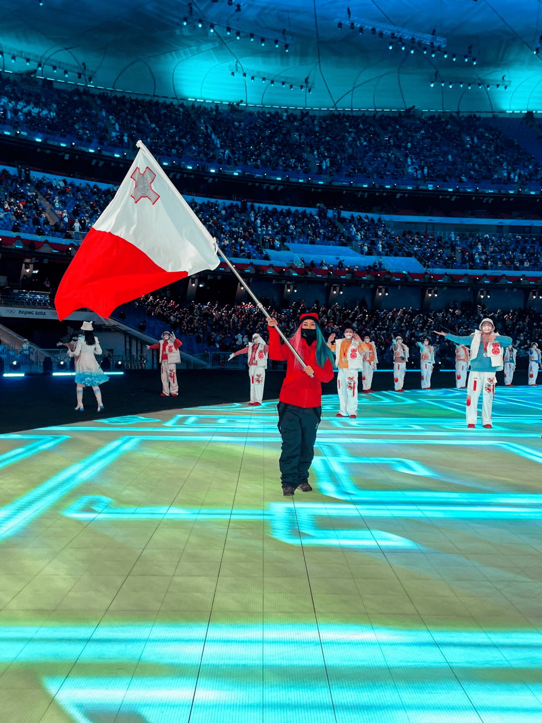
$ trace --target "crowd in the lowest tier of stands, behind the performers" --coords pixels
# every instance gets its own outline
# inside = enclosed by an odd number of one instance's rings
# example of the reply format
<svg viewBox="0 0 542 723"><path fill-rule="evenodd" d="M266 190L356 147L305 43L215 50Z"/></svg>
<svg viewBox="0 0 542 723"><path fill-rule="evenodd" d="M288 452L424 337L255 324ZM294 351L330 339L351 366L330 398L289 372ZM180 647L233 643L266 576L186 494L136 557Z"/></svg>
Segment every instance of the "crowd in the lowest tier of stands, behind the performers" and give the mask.
<svg viewBox="0 0 542 723"><path fill-rule="evenodd" d="M246 346L251 335L259 332L267 338L267 322L262 312L252 304L220 305L179 304L168 296L151 294L136 302L145 315L167 325L181 340L192 337L197 351L236 351ZM304 311L318 312L322 333L327 338L331 333L340 333L351 326L360 335L369 333L377 345L379 358L391 362L390 346L397 334L403 335L416 359L416 341L423 341L429 335L437 347L439 360L452 362L455 359L455 345L442 341L434 335L437 330L452 330L457 334L470 334L478 328L481 319L490 315L496 322L496 329L512 336L520 358L525 356L533 341L542 339L542 314L535 309L511 309L489 314L483 304L474 307L471 302L452 304L443 312L421 312L412 307L382 310L367 309L365 299L355 307L330 304L309 307L303 300L294 302L288 309L272 310L286 335L293 335L297 328L298 316Z"/></svg>

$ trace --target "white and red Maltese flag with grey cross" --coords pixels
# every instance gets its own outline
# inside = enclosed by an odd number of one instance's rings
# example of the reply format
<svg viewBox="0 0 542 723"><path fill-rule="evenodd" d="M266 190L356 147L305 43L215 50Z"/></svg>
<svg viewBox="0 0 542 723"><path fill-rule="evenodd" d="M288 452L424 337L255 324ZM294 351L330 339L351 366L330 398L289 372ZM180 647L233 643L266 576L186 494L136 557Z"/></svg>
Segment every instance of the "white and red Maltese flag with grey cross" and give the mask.
<svg viewBox="0 0 542 723"><path fill-rule="evenodd" d="M59 319L87 307L108 317L120 304L214 269L217 245L149 150L85 236L56 292Z"/></svg>

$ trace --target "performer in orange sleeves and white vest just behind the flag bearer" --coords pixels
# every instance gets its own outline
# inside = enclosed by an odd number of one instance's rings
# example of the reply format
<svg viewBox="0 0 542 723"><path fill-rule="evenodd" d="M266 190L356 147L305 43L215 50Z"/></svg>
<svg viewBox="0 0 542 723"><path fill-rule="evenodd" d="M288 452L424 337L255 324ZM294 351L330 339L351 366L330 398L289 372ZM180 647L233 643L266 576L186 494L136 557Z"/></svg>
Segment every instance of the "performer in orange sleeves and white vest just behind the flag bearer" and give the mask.
<svg viewBox="0 0 542 723"><path fill-rule="evenodd" d="M337 416L349 416L356 419L358 414L358 372L363 365L361 338L353 329L345 328L344 337L335 341L330 334L327 346L335 352L337 369L337 394L340 409Z"/></svg>

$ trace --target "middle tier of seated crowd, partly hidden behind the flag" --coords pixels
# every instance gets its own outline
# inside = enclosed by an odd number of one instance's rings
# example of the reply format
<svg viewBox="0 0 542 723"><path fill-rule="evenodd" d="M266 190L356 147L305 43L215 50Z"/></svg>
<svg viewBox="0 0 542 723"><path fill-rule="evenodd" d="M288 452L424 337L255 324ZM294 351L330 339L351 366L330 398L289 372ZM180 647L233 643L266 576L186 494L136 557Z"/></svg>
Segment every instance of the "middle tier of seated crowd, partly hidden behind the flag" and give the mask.
<svg viewBox="0 0 542 723"><path fill-rule="evenodd" d="M111 202L115 187L87 181L32 176L22 181L5 168L0 175L0 230L38 236L80 239ZM542 270L542 242L532 236L494 236L452 232L443 238L428 231L394 231L382 218L369 215L330 214L323 206L310 210L223 201L193 200L192 208L225 254L231 258L269 261L269 249L289 249L289 244L314 244L306 267L333 268L323 264L316 247L345 247L364 256L413 256L425 268L507 271ZM322 249L323 251L323 249ZM351 254L350 254L351 255ZM337 268L344 268L337 262ZM385 260L379 268L385 268Z"/></svg>

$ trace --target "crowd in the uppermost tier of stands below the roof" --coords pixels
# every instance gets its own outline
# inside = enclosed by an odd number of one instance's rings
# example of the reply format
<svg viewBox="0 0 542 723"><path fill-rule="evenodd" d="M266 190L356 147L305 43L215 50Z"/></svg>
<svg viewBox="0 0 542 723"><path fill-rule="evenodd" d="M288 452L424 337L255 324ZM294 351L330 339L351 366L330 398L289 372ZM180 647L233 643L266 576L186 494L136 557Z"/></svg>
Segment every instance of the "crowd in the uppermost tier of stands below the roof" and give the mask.
<svg viewBox="0 0 542 723"><path fill-rule="evenodd" d="M25 82L25 85L21 85ZM491 120L420 114L319 115L197 106L33 85L0 75L0 124L40 140L162 160L366 181L542 182L542 166Z"/></svg>

